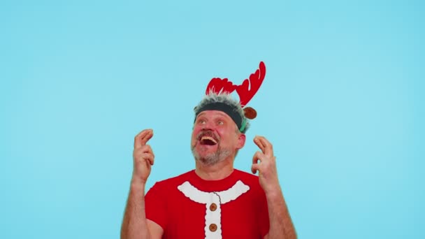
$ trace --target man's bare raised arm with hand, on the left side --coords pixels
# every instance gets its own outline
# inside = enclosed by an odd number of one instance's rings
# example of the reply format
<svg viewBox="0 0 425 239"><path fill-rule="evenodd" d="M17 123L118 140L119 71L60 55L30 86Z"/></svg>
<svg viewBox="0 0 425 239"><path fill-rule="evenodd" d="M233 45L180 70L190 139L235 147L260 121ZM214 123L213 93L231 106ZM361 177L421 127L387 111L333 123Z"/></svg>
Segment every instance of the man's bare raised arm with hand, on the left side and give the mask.
<svg viewBox="0 0 425 239"><path fill-rule="evenodd" d="M144 130L134 138L134 170L122 220L121 239L157 239L164 233L161 226L146 219L145 213L145 185L154 164L154 154L146 143L152 136L152 130Z"/></svg>

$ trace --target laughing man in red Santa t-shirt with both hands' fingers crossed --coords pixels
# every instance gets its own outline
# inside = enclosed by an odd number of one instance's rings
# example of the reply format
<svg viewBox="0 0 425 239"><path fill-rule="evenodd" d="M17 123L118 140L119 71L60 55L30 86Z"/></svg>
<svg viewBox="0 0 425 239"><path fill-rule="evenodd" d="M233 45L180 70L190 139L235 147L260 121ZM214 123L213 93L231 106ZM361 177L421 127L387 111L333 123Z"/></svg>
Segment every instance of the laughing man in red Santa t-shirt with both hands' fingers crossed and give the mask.
<svg viewBox="0 0 425 239"><path fill-rule="evenodd" d="M233 168L245 145L247 113L229 94L210 92L195 108L191 148L195 169L145 184L154 164L147 141L134 139L134 171L121 238L296 238L280 188L273 147L262 136L251 175Z"/></svg>

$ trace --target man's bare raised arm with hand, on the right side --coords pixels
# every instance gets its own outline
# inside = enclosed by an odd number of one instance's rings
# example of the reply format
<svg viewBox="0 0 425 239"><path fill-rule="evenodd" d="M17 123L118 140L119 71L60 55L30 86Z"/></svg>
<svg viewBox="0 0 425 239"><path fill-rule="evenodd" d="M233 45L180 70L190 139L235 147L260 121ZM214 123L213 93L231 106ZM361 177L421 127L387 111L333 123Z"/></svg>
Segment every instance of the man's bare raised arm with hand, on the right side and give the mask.
<svg viewBox="0 0 425 239"><path fill-rule="evenodd" d="M292 224L282 189L280 188L273 147L266 138L261 136L255 137L254 143L262 152L254 154L251 170L252 173L259 171L259 182L266 193L268 219L270 222L270 229L264 238L296 238L294 224Z"/></svg>

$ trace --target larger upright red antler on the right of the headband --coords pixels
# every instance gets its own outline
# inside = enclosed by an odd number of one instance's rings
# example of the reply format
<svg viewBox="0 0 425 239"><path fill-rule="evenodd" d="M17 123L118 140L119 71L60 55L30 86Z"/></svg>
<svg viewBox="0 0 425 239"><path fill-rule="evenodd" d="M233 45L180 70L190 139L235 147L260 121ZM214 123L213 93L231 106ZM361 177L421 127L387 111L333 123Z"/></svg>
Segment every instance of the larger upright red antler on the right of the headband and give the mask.
<svg viewBox="0 0 425 239"><path fill-rule="evenodd" d="M249 80L245 79L242 85L236 86L236 92L238 92L240 99L240 106L246 106L254 94L257 93L264 80L264 76L266 76L266 66L264 65L264 62L261 61L259 68L255 71L255 73L250 75ZM248 87L250 87L250 89L248 89Z"/></svg>

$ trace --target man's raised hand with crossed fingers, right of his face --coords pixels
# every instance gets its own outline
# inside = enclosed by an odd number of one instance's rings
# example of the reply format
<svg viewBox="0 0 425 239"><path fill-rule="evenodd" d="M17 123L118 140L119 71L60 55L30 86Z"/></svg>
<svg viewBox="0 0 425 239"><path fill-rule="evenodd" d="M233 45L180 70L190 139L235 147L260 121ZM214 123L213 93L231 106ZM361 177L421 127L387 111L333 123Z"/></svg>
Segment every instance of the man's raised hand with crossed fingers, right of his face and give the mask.
<svg viewBox="0 0 425 239"><path fill-rule="evenodd" d="M251 171L252 173L259 171L260 185L264 192L268 194L280 189L273 145L263 136L255 136L254 143L260 148L261 152L255 152L254 157L252 157Z"/></svg>

